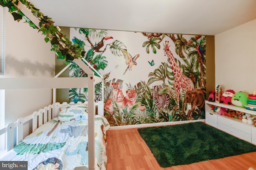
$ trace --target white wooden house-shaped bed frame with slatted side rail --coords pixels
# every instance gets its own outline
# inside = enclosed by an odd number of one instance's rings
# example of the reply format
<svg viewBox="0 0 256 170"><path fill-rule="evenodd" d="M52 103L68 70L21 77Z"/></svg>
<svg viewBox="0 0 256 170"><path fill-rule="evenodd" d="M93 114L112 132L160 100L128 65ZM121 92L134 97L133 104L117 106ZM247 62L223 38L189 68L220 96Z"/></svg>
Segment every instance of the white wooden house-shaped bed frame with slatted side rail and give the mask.
<svg viewBox="0 0 256 170"><path fill-rule="evenodd" d="M32 12L26 8L20 1L18 4L15 4L17 8L22 11L22 13L30 19L35 25L39 25L40 20L36 18L32 14ZM82 58L83 59L83 58ZM58 78L58 76L62 73L56 75L54 78L0 78L0 90L7 89L53 89L53 102L56 102L56 89L58 88L88 88L88 168L89 170L95 170L95 139L94 139L94 115L95 115L95 102L94 102L94 85L100 82L103 82L103 77L87 62L84 60L86 64L81 59L74 59L74 62L80 66L84 72L88 74L88 77L82 78L70 78L70 77L62 77ZM90 66L90 67L89 67ZM68 66L66 66L68 68ZM64 68L64 69L66 69ZM96 72L100 77L94 76L94 72ZM51 83L46 83L51 82ZM102 83L102 97L103 94L103 83ZM28 117L18 119L18 121L14 123L9 123L7 127L0 130L0 135L7 133L7 150L12 149L14 146L12 142L14 141L14 132L12 129L17 127L17 142L23 139L23 135L20 135L20 129L23 128L23 124L33 119L33 130L36 129L36 122L38 122L37 126L42 125L46 122L46 115L44 113L53 113L50 119L56 116L56 108L59 105L53 104L48 107L44 107L44 109L40 109L38 112L34 112L33 115L29 115ZM53 108L53 109L52 109ZM103 104L102 106L98 106L98 113L103 114ZM42 114L41 114L42 113ZM58 114L58 113L57 113ZM42 120L43 118L43 120ZM48 117L48 121L50 120ZM22 129L23 130L23 129Z"/></svg>

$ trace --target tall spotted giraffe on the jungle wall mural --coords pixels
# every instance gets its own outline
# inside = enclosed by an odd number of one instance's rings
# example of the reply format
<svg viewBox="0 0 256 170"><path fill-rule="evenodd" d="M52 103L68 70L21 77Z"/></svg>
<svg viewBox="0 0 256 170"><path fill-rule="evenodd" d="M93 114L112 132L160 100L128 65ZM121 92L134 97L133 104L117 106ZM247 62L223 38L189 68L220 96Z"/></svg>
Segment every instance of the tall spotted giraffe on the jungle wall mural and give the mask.
<svg viewBox="0 0 256 170"><path fill-rule="evenodd" d="M194 84L190 78L185 76L182 73L181 68L176 63L175 58L172 55L172 52L169 49L169 41L165 41L164 44L164 55L168 57L173 73L174 73L174 89L177 96L177 104L180 103L180 89L185 90L185 92L194 90Z"/></svg>

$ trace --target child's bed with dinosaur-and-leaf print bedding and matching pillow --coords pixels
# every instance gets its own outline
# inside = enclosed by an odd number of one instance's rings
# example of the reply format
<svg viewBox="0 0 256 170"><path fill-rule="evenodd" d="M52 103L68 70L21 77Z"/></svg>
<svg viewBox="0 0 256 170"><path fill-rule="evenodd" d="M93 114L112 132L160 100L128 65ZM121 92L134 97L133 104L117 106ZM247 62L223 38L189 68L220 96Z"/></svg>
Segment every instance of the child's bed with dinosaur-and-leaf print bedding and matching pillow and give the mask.
<svg viewBox="0 0 256 170"><path fill-rule="evenodd" d="M98 108L101 108L101 104L97 104ZM57 116L51 119L54 111ZM100 109L98 112L102 113ZM35 111L33 115L19 119L16 122L17 125L21 124L18 131L22 131L23 126L31 120L30 117L33 120L33 133L9 150L0 158L1 161L28 161L28 170L46 170L49 167L62 170L72 170L79 166L88 168L87 103L49 105ZM46 123L43 124L44 121ZM14 127L15 123L9 123L7 129L15 129ZM106 170L106 131L109 128L110 125L104 116L95 115L96 170ZM12 139L9 137L9 140ZM10 141L8 145L10 149Z"/></svg>

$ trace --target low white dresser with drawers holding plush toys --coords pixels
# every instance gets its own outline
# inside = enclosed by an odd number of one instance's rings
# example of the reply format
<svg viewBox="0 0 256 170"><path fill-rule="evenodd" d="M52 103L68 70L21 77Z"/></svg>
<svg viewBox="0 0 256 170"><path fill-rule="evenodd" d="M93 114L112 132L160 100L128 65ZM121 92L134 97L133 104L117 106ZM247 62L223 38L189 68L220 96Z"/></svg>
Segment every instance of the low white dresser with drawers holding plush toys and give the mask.
<svg viewBox="0 0 256 170"><path fill-rule="evenodd" d="M236 107L234 105L219 104L209 101L205 102L205 122L207 124L256 145L255 124L250 125L242 122L241 119L219 115L218 113L211 111L213 105L249 113L251 115L256 115L256 111L249 110L244 107Z"/></svg>

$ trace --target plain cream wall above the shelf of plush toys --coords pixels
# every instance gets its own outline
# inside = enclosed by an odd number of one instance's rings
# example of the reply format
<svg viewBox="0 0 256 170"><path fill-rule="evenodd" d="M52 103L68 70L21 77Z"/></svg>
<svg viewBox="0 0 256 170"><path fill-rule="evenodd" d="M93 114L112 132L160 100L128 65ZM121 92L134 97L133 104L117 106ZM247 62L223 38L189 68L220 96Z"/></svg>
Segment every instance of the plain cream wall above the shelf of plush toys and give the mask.
<svg viewBox="0 0 256 170"><path fill-rule="evenodd" d="M256 20L215 35L215 83L222 92L256 90Z"/></svg>

